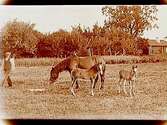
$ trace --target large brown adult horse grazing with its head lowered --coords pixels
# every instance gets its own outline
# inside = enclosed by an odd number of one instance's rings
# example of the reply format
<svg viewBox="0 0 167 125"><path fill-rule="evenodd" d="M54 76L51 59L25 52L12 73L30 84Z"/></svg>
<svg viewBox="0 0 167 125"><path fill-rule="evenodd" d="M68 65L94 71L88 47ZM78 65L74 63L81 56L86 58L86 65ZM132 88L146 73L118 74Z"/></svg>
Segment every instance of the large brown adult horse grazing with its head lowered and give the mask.
<svg viewBox="0 0 167 125"><path fill-rule="evenodd" d="M64 59L63 61L52 67L50 71L50 83L54 83L54 81L58 78L59 73L62 71L69 71L69 73L71 74L71 71L75 68L90 69L92 66L99 63L102 64L102 70L103 70L103 74L100 74L101 77L100 88L102 89L104 88L106 63L104 59L100 56L78 57L74 55ZM98 80L98 76L96 80ZM77 85L76 87L79 88L78 83L76 83L76 85Z"/></svg>

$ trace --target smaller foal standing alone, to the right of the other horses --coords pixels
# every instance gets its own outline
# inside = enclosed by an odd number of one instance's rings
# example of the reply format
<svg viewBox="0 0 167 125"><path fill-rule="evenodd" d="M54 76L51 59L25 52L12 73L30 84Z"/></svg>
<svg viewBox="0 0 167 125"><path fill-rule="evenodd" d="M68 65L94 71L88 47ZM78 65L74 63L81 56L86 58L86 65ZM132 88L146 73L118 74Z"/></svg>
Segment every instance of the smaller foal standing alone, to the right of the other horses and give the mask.
<svg viewBox="0 0 167 125"><path fill-rule="evenodd" d="M126 81L129 81L129 87L130 87L130 96L135 95L134 93L134 81L135 81L135 77L136 77L136 71L137 71L137 65L132 66L131 71L126 71L126 70L121 70L119 71L119 93L121 92L121 86L122 86L122 82L123 82L123 90L124 93L127 94L126 92Z"/></svg>

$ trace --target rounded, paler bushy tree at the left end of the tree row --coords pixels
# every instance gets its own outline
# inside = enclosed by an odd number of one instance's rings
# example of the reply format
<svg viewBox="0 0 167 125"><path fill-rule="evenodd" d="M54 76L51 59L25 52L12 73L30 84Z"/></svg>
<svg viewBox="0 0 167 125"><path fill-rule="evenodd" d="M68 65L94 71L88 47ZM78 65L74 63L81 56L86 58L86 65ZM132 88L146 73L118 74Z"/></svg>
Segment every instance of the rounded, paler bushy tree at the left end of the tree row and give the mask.
<svg viewBox="0 0 167 125"><path fill-rule="evenodd" d="M2 30L4 51L12 51L17 56L33 55L41 33L34 30L35 24L22 21L8 22Z"/></svg>

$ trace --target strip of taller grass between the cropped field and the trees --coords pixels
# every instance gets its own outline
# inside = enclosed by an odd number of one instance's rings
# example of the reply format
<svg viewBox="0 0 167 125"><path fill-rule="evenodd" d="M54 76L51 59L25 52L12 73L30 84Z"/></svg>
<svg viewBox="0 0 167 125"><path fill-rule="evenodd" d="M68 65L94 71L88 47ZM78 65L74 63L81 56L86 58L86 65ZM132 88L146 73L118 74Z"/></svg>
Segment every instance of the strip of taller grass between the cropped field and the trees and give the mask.
<svg viewBox="0 0 167 125"><path fill-rule="evenodd" d="M165 62L166 57L161 56L103 56L107 64L129 64L129 63L155 63ZM60 58L21 58L16 59L17 67L52 66L60 62Z"/></svg>

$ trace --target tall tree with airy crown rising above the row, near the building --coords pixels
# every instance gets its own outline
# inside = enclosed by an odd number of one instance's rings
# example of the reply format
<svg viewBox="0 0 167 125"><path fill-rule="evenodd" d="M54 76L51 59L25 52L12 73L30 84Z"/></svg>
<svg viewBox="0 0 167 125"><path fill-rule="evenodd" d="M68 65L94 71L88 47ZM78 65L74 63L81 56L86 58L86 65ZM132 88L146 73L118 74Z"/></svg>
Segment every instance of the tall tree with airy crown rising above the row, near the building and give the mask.
<svg viewBox="0 0 167 125"><path fill-rule="evenodd" d="M105 6L102 8L106 16L104 26L110 29L115 26L133 37L143 35L145 30L157 28L156 6Z"/></svg>

